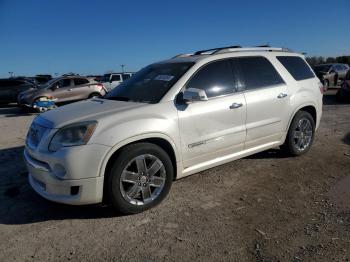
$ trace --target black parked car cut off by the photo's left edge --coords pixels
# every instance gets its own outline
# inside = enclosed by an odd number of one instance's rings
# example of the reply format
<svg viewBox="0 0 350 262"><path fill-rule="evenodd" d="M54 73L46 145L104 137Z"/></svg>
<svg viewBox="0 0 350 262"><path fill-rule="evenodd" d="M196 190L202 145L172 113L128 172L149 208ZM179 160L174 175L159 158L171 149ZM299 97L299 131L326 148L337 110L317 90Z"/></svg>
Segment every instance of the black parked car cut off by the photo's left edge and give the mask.
<svg viewBox="0 0 350 262"><path fill-rule="evenodd" d="M19 93L35 88L34 83L23 79L0 79L0 103L15 103Z"/></svg>

